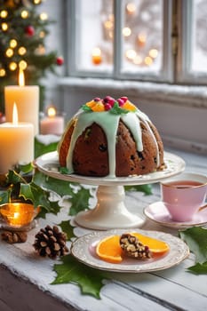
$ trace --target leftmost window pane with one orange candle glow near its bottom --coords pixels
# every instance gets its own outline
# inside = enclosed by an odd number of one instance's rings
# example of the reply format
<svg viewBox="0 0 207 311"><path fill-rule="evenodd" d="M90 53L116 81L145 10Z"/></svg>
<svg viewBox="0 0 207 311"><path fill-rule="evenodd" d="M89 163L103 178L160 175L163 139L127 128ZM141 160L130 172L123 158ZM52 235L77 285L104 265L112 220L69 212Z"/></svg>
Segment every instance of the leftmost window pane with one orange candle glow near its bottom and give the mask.
<svg viewBox="0 0 207 311"><path fill-rule="evenodd" d="M113 69L113 0L79 0L76 65L79 70Z"/></svg>

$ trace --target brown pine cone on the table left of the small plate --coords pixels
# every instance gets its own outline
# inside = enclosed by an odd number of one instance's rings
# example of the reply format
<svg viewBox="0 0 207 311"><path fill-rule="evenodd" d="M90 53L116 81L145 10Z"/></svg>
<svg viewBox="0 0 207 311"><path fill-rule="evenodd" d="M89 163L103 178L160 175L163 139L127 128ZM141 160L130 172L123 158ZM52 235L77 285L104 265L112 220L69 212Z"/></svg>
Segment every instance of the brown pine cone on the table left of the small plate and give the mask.
<svg viewBox="0 0 207 311"><path fill-rule="evenodd" d="M68 252L66 246L67 235L60 232L57 226L46 226L36 234L33 246L42 257L48 256L51 259L64 256Z"/></svg>

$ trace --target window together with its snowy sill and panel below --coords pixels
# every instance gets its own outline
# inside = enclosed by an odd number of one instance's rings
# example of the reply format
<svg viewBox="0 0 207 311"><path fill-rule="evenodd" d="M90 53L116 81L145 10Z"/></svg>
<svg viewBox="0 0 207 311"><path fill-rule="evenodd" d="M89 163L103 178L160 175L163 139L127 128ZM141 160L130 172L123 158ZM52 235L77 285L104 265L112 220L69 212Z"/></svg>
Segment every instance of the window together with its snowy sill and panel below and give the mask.
<svg viewBox="0 0 207 311"><path fill-rule="evenodd" d="M206 154L207 1L64 4L68 71L59 84L68 116L93 97L122 94L150 116L165 146Z"/></svg>

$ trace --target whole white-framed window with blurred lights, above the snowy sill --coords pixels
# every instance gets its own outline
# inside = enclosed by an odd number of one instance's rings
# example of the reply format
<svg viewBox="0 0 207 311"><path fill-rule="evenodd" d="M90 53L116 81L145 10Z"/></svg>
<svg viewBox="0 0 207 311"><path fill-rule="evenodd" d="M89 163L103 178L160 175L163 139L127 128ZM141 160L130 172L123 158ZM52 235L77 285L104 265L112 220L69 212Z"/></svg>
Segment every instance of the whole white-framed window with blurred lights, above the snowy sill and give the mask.
<svg viewBox="0 0 207 311"><path fill-rule="evenodd" d="M69 76L205 81L205 0L70 0L68 13Z"/></svg>

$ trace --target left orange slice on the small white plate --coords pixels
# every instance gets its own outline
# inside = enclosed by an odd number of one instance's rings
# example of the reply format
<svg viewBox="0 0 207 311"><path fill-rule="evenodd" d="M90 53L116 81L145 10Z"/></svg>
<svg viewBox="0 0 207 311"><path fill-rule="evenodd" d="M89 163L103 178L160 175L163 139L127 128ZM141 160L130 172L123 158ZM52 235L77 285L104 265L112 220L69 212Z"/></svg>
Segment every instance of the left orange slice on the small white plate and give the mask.
<svg viewBox="0 0 207 311"><path fill-rule="evenodd" d="M100 259L112 263L119 263L123 260L119 239L119 235L110 235L100 240L96 247L96 253Z"/></svg>

